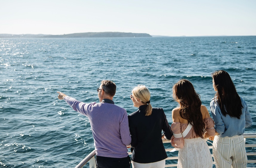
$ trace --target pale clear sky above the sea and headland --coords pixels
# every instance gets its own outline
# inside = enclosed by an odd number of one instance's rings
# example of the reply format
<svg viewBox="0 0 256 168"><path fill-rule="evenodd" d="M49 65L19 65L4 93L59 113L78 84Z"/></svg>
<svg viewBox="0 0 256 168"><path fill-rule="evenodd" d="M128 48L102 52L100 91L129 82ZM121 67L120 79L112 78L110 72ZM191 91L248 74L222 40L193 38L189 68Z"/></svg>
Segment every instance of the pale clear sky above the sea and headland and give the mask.
<svg viewBox="0 0 256 168"><path fill-rule="evenodd" d="M0 34L256 35L256 0L0 0Z"/></svg>

